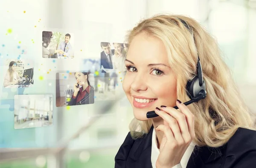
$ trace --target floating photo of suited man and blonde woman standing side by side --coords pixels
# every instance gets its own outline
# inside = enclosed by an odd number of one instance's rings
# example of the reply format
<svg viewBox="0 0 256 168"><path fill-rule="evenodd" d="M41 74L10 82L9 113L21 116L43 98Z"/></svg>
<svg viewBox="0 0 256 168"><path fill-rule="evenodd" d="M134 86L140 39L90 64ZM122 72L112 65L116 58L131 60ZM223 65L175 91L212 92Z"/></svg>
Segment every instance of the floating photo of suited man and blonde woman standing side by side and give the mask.
<svg viewBox="0 0 256 168"><path fill-rule="evenodd" d="M101 72L126 72L125 58L128 50L128 43L101 42L100 54Z"/></svg>

